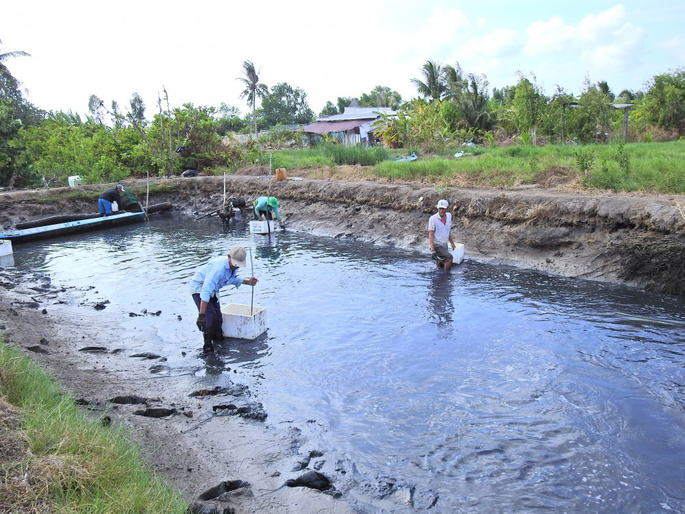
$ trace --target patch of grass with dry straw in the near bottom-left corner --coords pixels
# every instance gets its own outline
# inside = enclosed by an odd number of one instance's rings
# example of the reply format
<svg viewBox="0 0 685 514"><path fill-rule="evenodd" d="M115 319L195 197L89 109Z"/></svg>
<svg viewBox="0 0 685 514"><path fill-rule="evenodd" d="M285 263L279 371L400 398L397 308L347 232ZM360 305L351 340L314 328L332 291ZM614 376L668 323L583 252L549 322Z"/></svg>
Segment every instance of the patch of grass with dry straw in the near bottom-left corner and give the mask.
<svg viewBox="0 0 685 514"><path fill-rule="evenodd" d="M47 495L58 511L186 511L181 495L145 466L140 448L120 429L89 419L45 371L3 340L0 393L21 412L23 432L33 454L27 465L40 479L38 493Z"/></svg>

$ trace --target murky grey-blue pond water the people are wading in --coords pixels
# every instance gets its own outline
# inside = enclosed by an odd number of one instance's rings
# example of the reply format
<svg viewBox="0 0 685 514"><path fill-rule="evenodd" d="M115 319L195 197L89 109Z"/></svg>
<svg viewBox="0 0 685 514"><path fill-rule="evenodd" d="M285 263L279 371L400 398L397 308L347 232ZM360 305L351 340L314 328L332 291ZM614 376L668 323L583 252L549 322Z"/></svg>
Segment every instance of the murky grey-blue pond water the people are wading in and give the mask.
<svg viewBox="0 0 685 514"><path fill-rule="evenodd" d="M203 358L188 280L237 243L268 336ZM250 370L270 423L316 420L321 447L434 491L432 511L685 511L685 299L473 262L438 273L399 250L182 217L15 260L95 286L110 300L96 322L171 368L210 384ZM162 313L129 317L143 308Z"/></svg>

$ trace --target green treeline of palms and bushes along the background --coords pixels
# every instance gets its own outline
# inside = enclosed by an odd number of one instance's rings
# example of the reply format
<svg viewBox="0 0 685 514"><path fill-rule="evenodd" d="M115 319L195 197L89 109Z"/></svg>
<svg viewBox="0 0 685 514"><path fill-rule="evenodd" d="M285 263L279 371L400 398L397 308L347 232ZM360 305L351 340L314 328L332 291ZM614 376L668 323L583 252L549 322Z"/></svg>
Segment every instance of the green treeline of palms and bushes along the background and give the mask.
<svg viewBox="0 0 685 514"><path fill-rule="evenodd" d="M130 175L177 175L185 169L264 165L269 155L260 144L240 145L226 136L314 119L301 88L285 82L271 88L261 84L249 61L238 78L245 84L241 97L251 109L244 116L226 103L172 107L166 90L152 109L133 93L123 108L92 95L84 116L45 112L25 99L22 84L5 65L10 58L26 56L0 53L0 186L66 185L69 175L97 183ZM635 103L628 140L672 140L685 133L685 69L656 75L644 91L618 94L606 82L588 79L578 97L560 87L547 95L532 75L521 75L516 84L490 93L483 75L432 61L412 83L419 96L410 101L377 86L360 97L329 101L320 114L343 112L353 100L360 106L394 108L397 117L376 124L386 146L429 153L466 141L490 146L606 143L621 134L623 126L623 110L612 103ZM260 136L260 143L286 139L299 145L301 132L273 131L270 138Z"/></svg>

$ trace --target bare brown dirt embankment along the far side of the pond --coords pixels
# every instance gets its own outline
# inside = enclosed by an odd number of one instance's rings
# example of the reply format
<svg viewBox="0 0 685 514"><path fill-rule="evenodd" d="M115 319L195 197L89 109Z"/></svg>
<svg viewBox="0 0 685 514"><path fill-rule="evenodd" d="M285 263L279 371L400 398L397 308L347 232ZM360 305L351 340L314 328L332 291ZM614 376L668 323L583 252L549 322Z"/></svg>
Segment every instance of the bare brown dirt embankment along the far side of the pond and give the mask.
<svg viewBox="0 0 685 514"><path fill-rule="evenodd" d="M128 185L145 188L145 182ZM288 228L338 238L396 245L427 254L427 220L440 198L449 200L453 236L466 258L537 269L562 276L626 282L685 294L685 196L503 191L421 184L288 180L231 176L229 195L251 201L275 195ZM92 212L93 199L73 189L0 194L0 225L56 212ZM141 199L142 199L141 195ZM221 206L223 178L155 181L151 204L208 212ZM143 200L144 201L144 200Z"/></svg>

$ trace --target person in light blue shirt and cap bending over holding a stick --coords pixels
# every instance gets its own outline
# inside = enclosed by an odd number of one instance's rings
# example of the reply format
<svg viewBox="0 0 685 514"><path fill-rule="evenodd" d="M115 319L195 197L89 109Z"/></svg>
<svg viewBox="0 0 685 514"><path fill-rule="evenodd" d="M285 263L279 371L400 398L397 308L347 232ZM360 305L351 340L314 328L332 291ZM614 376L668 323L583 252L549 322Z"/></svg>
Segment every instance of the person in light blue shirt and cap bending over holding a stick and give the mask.
<svg viewBox="0 0 685 514"><path fill-rule="evenodd" d="M204 338L203 352L214 352L214 343L223 339L223 316L219 304L219 290L226 285L254 286L257 278L240 278L238 268L245 267L245 248L234 246L228 255L215 257L195 271L190 280L190 294L199 314L197 328Z"/></svg>

